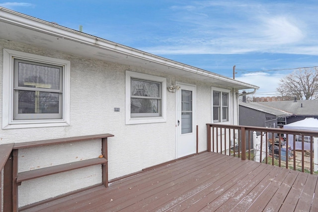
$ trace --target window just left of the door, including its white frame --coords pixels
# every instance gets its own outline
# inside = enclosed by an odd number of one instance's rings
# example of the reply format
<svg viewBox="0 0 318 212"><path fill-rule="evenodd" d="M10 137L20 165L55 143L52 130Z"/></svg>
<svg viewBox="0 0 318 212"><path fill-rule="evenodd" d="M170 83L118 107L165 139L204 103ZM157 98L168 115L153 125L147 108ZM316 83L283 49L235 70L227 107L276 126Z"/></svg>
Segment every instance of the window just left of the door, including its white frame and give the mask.
<svg viewBox="0 0 318 212"><path fill-rule="evenodd" d="M166 79L126 71L126 124L165 121Z"/></svg>

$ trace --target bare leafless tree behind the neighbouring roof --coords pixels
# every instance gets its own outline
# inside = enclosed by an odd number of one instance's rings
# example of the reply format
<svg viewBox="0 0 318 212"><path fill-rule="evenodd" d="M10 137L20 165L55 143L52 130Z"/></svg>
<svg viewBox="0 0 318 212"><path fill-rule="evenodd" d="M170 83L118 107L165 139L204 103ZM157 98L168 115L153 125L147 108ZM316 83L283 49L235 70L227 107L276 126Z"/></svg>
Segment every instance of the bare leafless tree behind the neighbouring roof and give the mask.
<svg viewBox="0 0 318 212"><path fill-rule="evenodd" d="M297 99L316 99L318 97L318 69L298 69L280 79L276 88L283 97L296 96Z"/></svg>

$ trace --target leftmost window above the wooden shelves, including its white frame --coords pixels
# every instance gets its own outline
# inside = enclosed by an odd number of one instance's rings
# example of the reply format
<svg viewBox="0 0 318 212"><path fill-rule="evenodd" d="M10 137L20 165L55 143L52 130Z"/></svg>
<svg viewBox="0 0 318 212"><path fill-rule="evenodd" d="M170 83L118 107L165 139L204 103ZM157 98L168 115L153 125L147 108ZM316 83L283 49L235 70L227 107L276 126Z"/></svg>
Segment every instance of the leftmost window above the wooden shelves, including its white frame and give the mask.
<svg viewBox="0 0 318 212"><path fill-rule="evenodd" d="M69 125L69 61L3 50L3 87L3 129Z"/></svg>

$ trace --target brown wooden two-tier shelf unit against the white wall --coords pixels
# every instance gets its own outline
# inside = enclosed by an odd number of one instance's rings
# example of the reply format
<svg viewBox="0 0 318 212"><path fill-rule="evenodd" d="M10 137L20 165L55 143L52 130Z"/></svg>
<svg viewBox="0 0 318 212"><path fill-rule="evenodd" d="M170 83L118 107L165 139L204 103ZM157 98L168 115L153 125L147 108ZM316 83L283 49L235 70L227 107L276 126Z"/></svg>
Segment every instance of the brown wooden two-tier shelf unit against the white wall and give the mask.
<svg viewBox="0 0 318 212"><path fill-rule="evenodd" d="M4 171L4 186L3 186L3 211L17 212L18 208L18 186L21 182L31 180L43 176L57 174L61 172L71 171L92 165L102 165L102 185L108 187L108 160L107 160L107 138L113 137L111 134L101 134L92 136L80 136L63 139L31 141L21 143L10 143L0 145L0 155L5 155L0 158L0 168ZM39 168L30 171L18 172L18 150L22 148L32 148L37 146L54 145L78 141L90 141L101 139L101 156L92 159L80 160L61 165L55 165L45 168ZM1 175L0 175L1 179ZM91 187L89 187L91 188ZM81 191L83 191L82 189ZM1 201L0 201L1 203ZM1 205L0 205L1 206ZM27 206L29 207L29 206ZM27 207L23 207L27 209ZM4 210L5 209L5 210Z"/></svg>

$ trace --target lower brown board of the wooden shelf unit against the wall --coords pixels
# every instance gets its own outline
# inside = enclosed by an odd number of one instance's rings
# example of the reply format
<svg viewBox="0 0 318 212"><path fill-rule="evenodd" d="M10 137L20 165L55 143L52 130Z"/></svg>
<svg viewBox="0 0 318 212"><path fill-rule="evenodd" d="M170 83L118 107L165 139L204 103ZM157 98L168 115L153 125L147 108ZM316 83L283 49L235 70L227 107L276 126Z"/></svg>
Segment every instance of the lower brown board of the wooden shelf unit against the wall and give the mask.
<svg viewBox="0 0 318 212"><path fill-rule="evenodd" d="M61 172L66 172L66 171L71 171L74 169L79 169L79 168L84 168L87 166L92 166L92 165L98 165L98 164L103 164L107 163L106 158L92 158L92 159L87 159L87 160L81 160L81 161L76 161L72 163L65 163L61 165L56 165L56 166L50 166L50 167L45 167L45 168L40 168L40 169L35 169L31 171L24 171L24 172L19 172L18 177L16 179L17 183L20 183L22 181L26 180L31 180L39 177L44 177L52 174L58 174Z"/></svg>

